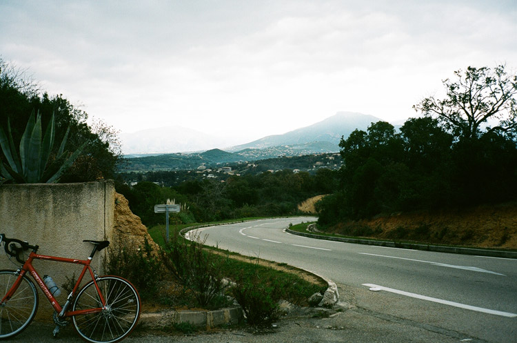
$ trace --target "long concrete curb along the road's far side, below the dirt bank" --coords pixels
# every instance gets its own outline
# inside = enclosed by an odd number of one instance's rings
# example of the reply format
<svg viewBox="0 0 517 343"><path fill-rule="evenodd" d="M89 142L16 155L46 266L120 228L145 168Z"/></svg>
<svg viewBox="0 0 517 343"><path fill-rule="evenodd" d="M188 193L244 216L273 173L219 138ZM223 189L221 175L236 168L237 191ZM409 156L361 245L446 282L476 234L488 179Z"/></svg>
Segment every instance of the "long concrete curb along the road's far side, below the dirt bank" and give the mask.
<svg viewBox="0 0 517 343"><path fill-rule="evenodd" d="M517 258L516 251L495 251L495 250L477 249L477 248L458 248L455 246L434 246L434 245L430 245L430 244L414 244L414 243L402 243L402 242L393 242L393 241L377 241L377 240L373 240L373 239L332 237L332 236L316 235L314 233L301 233L298 231L292 231L290 228L287 228L287 232L291 233L292 235L298 235L298 236L310 237L310 238L316 238L316 239L325 239L327 241L334 241L334 242L367 244L367 245L373 245L373 246L389 246L392 248L405 248L405 249L414 249L414 250L423 250L423 251L436 251L438 253L454 253L454 254L478 255L478 256L488 256L488 257Z"/></svg>

